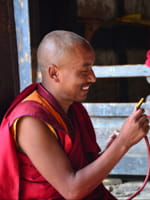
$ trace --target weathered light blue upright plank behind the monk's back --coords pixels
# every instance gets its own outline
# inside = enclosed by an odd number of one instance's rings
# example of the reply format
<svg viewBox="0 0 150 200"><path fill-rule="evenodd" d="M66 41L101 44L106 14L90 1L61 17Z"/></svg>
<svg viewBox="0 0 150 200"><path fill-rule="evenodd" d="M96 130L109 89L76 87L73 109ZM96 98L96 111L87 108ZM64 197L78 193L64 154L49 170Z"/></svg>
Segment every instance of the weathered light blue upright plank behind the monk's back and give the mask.
<svg viewBox="0 0 150 200"><path fill-rule="evenodd" d="M14 0L20 90L32 83L28 0Z"/></svg>

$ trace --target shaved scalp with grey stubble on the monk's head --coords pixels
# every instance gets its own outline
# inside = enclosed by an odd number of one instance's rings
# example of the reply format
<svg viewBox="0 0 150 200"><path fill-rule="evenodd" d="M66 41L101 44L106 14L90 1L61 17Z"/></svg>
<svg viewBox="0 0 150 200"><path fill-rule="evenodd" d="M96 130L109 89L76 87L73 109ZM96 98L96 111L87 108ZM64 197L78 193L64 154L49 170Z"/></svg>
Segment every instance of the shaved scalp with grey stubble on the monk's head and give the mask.
<svg viewBox="0 0 150 200"><path fill-rule="evenodd" d="M38 65L43 73L50 65L63 65L64 56L74 54L74 48L82 46L92 49L83 37L69 31L52 31L41 41L37 51Z"/></svg>

